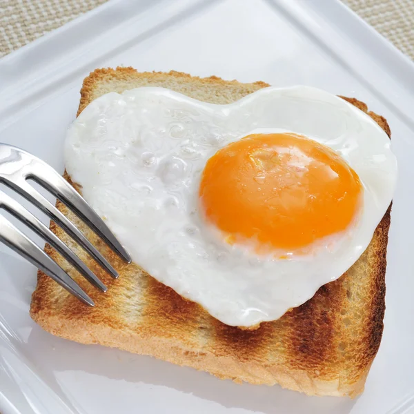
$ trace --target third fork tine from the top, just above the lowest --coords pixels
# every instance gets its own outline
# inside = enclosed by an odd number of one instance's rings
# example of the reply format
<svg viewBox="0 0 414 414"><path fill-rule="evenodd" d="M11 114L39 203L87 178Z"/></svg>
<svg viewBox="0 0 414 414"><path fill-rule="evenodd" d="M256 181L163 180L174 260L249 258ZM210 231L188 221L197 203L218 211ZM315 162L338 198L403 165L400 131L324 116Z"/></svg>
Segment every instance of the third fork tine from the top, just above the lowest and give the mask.
<svg viewBox="0 0 414 414"><path fill-rule="evenodd" d="M51 246L53 246L70 264L72 264L83 275L88 282L96 286L103 292L106 292L106 286L92 273L75 253L64 244L59 237L53 234L37 217L34 217L26 208L21 206L16 200L12 199L5 193L0 192L0 206L10 214L17 217L20 221L27 224L34 232L43 237Z"/></svg>

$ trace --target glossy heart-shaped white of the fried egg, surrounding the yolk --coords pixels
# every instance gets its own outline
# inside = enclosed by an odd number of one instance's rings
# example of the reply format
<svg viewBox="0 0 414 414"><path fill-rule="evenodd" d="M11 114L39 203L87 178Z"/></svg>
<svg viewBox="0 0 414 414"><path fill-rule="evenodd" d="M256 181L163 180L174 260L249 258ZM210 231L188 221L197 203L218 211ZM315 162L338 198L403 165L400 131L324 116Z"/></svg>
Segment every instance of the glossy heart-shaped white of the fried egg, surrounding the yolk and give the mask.
<svg viewBox="0 0 414 414"><path fill-rule="evenodd" d="M252 132L306 135L357 172L362 211L334 248L288 260L263 257L224 243L204 222L198 187L206 161ZM164 88L112 92L74 121L65 159L83 197L134 262L233 326L278 319L351 267L391 203L397 172L390 140L371 117L306 86L264 88L229 105Z"/></svg>

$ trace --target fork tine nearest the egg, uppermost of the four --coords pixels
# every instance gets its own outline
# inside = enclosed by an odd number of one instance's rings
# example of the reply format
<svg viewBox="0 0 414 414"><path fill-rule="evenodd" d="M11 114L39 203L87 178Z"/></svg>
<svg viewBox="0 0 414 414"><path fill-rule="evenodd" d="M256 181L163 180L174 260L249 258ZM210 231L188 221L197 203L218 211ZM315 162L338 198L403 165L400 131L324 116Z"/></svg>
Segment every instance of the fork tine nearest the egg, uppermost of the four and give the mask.
<svg viewBox="0 0 414 414"><path fill-rule="evenodd" d="M128 263L131 262L130 255L125 248L118 242L108 226L103 222L101 217L95 213L89 204L79 195L77 190L68 184L68 181L61 177L48 164L41 160L37 160L37 164L33 164L34 175L30 178L37 181L38 184L49 190L64 204L66 204L74 213L76 213L92 230L101 237L112 250L120 255Z"/></svg>

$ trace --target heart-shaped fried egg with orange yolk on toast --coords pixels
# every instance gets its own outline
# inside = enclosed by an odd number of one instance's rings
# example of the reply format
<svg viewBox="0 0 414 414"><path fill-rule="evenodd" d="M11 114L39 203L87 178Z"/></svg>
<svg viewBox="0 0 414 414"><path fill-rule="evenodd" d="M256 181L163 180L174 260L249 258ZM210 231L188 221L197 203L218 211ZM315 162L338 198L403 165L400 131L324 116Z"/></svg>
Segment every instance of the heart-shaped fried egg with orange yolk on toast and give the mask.
<svg viewBox="0 0 414 414"><path fill-rule="evenodd" d="M391 203L397 163L371 117L323 90L215 105L108 93L68 130L66 170L139 264L232 326L278 319L340 277Z"/></svg>

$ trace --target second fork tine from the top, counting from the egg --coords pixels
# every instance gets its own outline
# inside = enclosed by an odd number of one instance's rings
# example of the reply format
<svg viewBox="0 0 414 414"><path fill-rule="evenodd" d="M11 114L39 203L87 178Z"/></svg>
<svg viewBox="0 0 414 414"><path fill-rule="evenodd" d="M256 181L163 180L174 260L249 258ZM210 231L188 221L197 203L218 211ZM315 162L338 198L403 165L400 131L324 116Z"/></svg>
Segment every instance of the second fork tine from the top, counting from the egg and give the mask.
<svg viewBox="0 0 414 414"><path fill-rule="evenodd" d="M24 179L17 181L8 181L7 184L11 186L17 193L26 197L35 206L40 208L46 213L53 221L56 221L63 230L78 242L112 277L117 278L119 275L117 270L113 268L108 260L105 259L90 243L90 241L81 233L81 231L72 224L72 222L66 218L53 204L51 204L41 193L35 190L28 182Z"/></svg>

